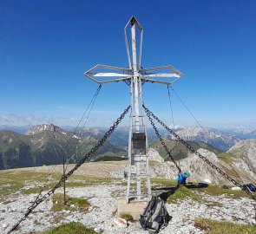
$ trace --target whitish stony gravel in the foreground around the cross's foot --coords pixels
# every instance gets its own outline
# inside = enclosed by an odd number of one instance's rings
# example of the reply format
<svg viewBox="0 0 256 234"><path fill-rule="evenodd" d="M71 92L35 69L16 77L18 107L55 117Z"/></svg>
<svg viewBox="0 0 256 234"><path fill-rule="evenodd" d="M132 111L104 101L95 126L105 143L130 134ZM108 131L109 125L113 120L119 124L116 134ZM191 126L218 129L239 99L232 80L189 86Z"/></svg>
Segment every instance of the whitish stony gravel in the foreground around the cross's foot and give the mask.
<svg viewBox="0 0 256 234"><path fill-rule="evenodd" d="M148 233L143 231L138 222L129 223L128 228L115 228L115 210L118 198L124 196L125 187L121 181L89 187L69 188L70 197L87 198L90 203L88 213L80 211L50 211L51 199L36 207L14 233L35 233L62 223L72 221L93 227L102 233ZM61 190L57 192L62 192ZM6 233L22 217L36 194L23 195L19 192L0 203L0 233ZM227 198L224 195L211 197L203 195L201 201L187 198L174 204L167 204L167 211L173 217L164 233L191 234L204 233L194 226L195 218L211 218L239 224L256 224L252 200L249 198ZM250 208L251 207L251 208Z"/></svg>

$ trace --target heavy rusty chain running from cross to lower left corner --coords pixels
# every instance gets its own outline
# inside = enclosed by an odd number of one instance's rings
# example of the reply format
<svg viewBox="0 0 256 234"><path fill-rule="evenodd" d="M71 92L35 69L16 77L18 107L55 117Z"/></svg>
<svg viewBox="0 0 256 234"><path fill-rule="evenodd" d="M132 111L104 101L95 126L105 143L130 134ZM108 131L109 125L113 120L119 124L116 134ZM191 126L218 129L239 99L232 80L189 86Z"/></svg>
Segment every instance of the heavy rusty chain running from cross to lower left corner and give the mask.
<svg viewBox="0 0 256 234"><path fill-rule="evenodd" d="M90 159L95 154L95 152L98 150L98 148L100 146L102 146L106 140L108 140L108 137L111 135L111 133L114 132L115 128L121 123L121 120L125 117L125 115L128 114L129 108L130 108L130 106L128 106L124 110L124 112L121 114L121 116L115 121L114 125L109 128L108 132L105 133L105 135L102 137L102 139L97 142L97 144L89 151L89 153L87 153L83 157L83 159L81 159L81 161L75 165L75 167L72 170L70 170L68 173L62 175L62 179L60 179L60 181L49 192L45 193L42 198L37 198L35 200L35 202L32 205L30 205L28 210L23 214L23 217L20 218L18 222L16 222L16 224L10 229L10 231L7 232L7 234L10 234L10 232L15 231L16 227L19 224L21 224L25 218L27 218L29 216L29 214L36 208L37 205L42 203L45 199L49 198L49 196L52 195L56 191L56 189L59 188L62 185L62 183L65 180L67 180L69 178L69 176L71 176L75 172L75 170L77 170L78 167L82 166L82 164L86 160Z"/></svg>

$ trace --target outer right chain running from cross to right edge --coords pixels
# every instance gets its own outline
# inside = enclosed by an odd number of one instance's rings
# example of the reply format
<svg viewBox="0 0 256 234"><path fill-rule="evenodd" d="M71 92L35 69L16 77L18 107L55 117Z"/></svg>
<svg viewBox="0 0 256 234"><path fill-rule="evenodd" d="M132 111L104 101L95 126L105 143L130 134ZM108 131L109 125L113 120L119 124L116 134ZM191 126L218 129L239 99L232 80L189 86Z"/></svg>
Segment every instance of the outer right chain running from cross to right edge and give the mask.
<svg viewBox="0 0 256 234"><path fill-rule="evenodd" d="M234 185L240 187L243 191L245 191L246 193L248 193L255 201L256 198L255 196L253 196L253 193L250 191L249 188L247 188L246 186L241 185L240 183L238 183L236 180L234 180L233 178L231 178L230 176L228 176L226 174L226 172L223 172L220 167L215 166L211 161L209 161L206 157L204 157L203 155L201 155L199 152L197 152L192 146L190 146L185 140L181 139L181 137L175 133L172 129L170 129L169 127L167 127L167 125L165 123L163 123L157 116L155 116L147 107L145 107L145 105L143 104L142 107L145 109L145 112L148 116L148 119L150 120L150 122L152 122L152 118L150 116L152 116L154 118L154 120L157 120L162 127L164 127L165 129L167 129L167 131L171 134L174 135L174 137L177 140L180 140L181 143L185 146L187 146L187 148L189 150L191 150L192 153L195 153L197 156L200 157L200 159L203 159L209 166L212 166L213 169L215 169L217 172L219 172L221 175L225 176L225 178L227 180L229 180L230 182L232 182ZM155 131L155 130L154 130ZM254 205L254 209L256 211L256 205ZM255 220L256 220L256 213L255 213Z"/></svg>

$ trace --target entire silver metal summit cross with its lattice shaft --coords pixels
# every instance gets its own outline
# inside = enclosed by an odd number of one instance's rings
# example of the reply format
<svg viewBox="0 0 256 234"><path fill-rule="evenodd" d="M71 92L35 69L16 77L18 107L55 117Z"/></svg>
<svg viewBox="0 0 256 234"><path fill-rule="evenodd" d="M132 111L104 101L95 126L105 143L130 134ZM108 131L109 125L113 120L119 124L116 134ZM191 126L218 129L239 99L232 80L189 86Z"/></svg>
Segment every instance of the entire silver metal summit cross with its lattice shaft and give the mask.
<svg viewBox="0 0 256 234"><path fill-rule="evenodd" d="M130 30L130 42L128 42L128 27ZM136 41L136 32L139 32L139 43ZM142 108L142 83L160 83L170 85L176 79L181 78L181 72L171 65L156 68L141 67L142 36L143 28L132 16L124 28L125 42L128 55L128 68L119 68L98 64L89 69L84 75L98 84L125 81L130 86L131 112L129 119L128 137L128 186L126 199L141 200L141 183L146 184L148 199L151 198L151 185L148 167L148 135ZM139 44L139 53L137 52ZM130 56L132 55L132 58ZM106 71L110 69L112 72ZM160 71L161 72L155 72ZM172 78L172 81L165 81L164 78ZM133 191L133 184L136 184Z"/></svg>

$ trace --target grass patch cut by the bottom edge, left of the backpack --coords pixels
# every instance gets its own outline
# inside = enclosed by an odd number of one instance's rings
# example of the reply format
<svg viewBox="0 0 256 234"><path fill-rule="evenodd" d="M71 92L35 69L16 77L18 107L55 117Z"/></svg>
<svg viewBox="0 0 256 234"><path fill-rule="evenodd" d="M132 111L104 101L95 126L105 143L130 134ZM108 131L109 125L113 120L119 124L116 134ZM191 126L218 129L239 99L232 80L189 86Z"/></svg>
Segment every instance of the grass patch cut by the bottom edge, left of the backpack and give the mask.
<svg viewBox="0 0 256 234"><path fill-rule="evenodd" d="M92 228L86 228L81 223L72 222L43 231L42 234L97 234Z"/></svg>

